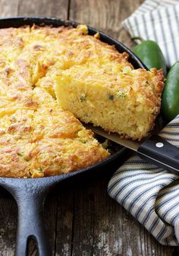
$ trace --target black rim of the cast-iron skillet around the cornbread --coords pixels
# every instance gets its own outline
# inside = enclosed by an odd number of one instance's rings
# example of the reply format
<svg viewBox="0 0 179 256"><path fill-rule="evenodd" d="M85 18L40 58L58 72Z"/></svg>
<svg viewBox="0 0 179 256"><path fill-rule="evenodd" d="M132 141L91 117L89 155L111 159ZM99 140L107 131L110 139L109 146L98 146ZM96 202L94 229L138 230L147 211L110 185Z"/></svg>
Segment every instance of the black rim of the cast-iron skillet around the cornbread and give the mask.
<svg viewBox="0 0 179 256"><path fill-rule="evenodd" d="M50 25L52 27L60 27L60 26L72 26L77 27L78 22L76 21L64 21L60 18L55 17L43 17L43 16L17 16L17 17L5 17L0 18L0 28L8 28L8 27L21 27L25 25L33 26L33 24L36 24L38 26L46 26ZM146 66L143 64L143 62L140 61L139 58L137 58L136 55L130 49L127 48L127 46L124 46L123 43L119 42L118 40L115 40L113 37L108 36L107 34L103 33L100 30L97 30L96 28L89 27L86 25L89 30L89 35L94 35L95 33L99 32L100 34L100 40L102 42L108 43L109 45L115 45L115 48L118 50L118 52L127 52L129 55L129 62L133 65L134 68L146 68ZM122 51L121 51L122 49ZM102 160L99 163L93 164L93 166L89 166L85 169L80 169L74 172L68 172L67 174L61 174L61 175L55 175L55 176L49 176L49 177L43 177L43 178L32 178L32 179L67 179L68 177L80 175L84 172L92 172L95 169L101 169L103 166L105 167L106 164L113 162L118 157L123 156L124 152L126 152L126 149L124 147L121 147L120 150L112 154L111 156L108 156L105 160ZM6 179L5 177L1 177L1 179ZM20 179L20 178L8 178L8 179Z"/></svg>

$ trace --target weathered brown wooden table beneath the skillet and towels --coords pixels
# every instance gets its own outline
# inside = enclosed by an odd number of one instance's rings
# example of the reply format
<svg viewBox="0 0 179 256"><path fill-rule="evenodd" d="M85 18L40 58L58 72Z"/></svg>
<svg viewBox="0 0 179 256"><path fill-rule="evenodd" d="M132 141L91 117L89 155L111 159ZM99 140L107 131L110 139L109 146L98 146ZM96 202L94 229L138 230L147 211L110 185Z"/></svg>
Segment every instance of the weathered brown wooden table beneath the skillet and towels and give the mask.
<svg viewBox="0 0 179 256"><path fill-rule="evenodd" d="M121 26L143 0L0 0L1 17L41 15L89 24L132 47ZM120 163L117 163L119 166ZM116 167L115 167L116 168ZM47 198L46 229L56 256L171 256L124 208L107 195L109 175L65 183ZM14 255L17 206L8 193L0 196L0 255ZM30 255L38 255L33 241ZM175 252L175 256L178 254Z"/></svg>

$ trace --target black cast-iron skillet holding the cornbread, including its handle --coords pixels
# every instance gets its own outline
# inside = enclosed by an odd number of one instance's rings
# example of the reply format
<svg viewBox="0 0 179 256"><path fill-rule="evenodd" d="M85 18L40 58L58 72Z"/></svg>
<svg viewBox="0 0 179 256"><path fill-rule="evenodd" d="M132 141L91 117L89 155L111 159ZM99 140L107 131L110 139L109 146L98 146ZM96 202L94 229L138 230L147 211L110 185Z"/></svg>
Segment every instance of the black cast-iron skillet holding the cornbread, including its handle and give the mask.
<svg viewBox="0 0 179 256"><path fill-rule="evenodd" d="M62 21L60 19L48 17L11 17L0 19L0 28L4 27L20 27L23 25L37 24L40 26L52 25L59 27L61 25L73 27L77 26L74 21ZM94 35L98 30L88 27L89 34ZM127 49L122 43L111 38L111 36L100 32L100 40L110 45L115 45L119 52L127 52L130 55L129 61L133 64L134 68L146 68L140 59L137 58L130 49ZM124 153L124 148L109 156L108 159L103 160L101 163L90 166L86 169L81 169L76 172L71 172L64 175L39 178L39 179L11 179L0 178L0 186L7 189L17 202L18 207L18 225L17 225L17 245L16 256L25 256L27 254L27 240L30 237L36 240L40 256L52 255L49 247L48 239L46 238L46 230L42 220L43 204L46 195L50 189L54 188L59 182L65 179L74 178L74 176L81 176L90 174L95 178L95 173L102 169L109 163L112 163L117 158L120 158Z"/></svg>

